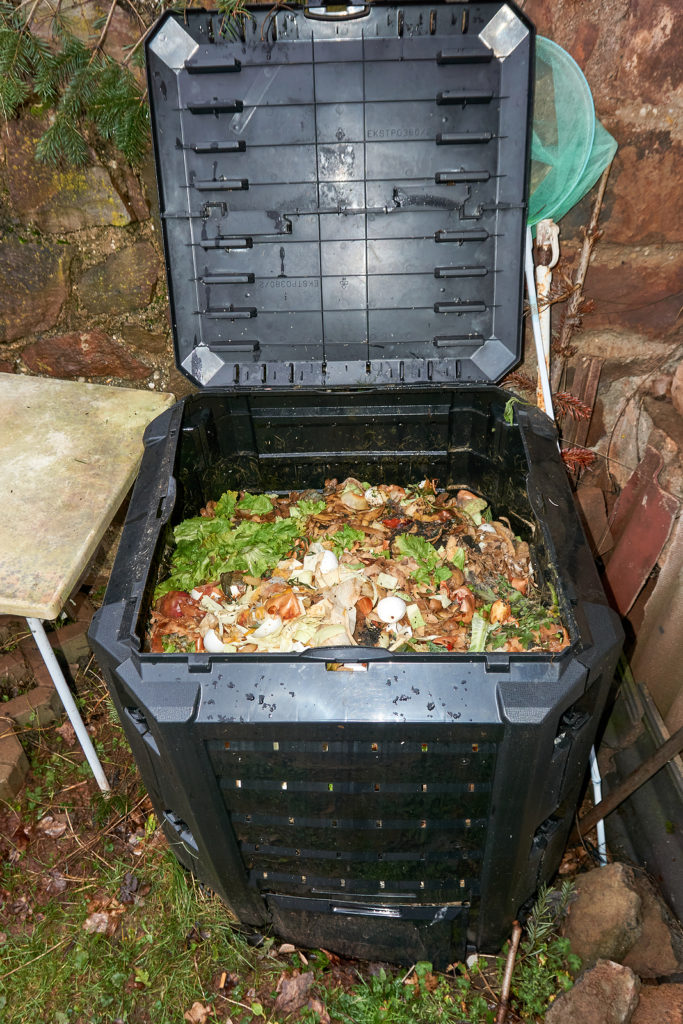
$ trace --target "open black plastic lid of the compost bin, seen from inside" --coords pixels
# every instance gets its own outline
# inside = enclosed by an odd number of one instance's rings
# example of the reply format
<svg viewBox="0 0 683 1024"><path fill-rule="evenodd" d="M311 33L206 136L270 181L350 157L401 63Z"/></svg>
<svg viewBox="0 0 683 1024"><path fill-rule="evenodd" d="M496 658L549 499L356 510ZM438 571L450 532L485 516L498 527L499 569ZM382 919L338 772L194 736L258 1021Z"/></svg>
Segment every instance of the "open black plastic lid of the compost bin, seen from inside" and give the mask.
<svg viewBox="0 0 683 1024"><path fill-rule="evenodd" d="M521 349L532 41L501 3L163 16L147 73L180 369L500 380Z"/></svg>

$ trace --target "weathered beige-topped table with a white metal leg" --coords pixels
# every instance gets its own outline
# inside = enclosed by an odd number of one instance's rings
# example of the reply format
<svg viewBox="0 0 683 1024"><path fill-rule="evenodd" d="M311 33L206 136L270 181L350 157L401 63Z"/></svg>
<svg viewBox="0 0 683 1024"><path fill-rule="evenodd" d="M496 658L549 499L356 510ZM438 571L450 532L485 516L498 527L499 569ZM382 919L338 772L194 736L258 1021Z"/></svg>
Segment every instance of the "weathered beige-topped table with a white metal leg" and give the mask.
<svg viewBox="0 0 683 1024"><path fill-rule="evenodd" d="M27 618L100 790L106 776L45 635L173 395L0 373L0 613Z"/></svg>

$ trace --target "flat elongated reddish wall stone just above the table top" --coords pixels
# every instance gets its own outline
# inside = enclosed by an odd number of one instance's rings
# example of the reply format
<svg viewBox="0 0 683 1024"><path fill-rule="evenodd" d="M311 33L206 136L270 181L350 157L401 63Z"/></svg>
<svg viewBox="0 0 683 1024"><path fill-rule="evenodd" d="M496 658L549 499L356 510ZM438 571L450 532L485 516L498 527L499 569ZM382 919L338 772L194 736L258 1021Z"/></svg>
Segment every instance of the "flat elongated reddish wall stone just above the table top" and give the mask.
<svg viewBox="0 0 683 1024"><path fill-rule="evenodd" d="M22 358L30 370L61 380L109 376L143 380L152 373L150 367L99 330L41 338L27 345Z"/></svg>

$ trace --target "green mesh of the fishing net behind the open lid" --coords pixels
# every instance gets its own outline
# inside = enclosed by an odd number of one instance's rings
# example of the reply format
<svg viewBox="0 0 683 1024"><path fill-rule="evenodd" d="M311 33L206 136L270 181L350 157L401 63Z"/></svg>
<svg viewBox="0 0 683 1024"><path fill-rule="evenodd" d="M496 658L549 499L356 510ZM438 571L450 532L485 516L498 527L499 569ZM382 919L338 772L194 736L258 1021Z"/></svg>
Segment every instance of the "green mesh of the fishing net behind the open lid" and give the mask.
<svg viewBox="0 0 683 1024"><path fill-rule="evenodd" d="M527 223L557 221L593 187L616 152L595 117L577 61L550 39L536 41L531 174Z"/></svg>

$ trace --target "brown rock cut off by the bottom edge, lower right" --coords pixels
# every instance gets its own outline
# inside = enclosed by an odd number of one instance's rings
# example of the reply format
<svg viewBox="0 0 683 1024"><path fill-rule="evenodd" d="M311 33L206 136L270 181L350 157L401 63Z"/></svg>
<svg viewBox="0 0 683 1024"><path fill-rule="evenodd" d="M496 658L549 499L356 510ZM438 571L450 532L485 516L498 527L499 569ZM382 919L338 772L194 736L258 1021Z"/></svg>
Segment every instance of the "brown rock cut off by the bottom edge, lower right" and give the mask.
<svg viewBox="0 0 683 1024"><path fill-rule="evenodd" d="M545 1024L629 1024L640 979L628 967L598 961L546 1014Z"/></svg>

